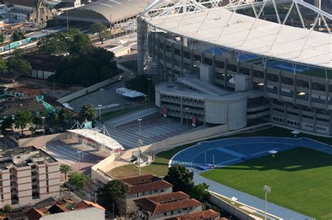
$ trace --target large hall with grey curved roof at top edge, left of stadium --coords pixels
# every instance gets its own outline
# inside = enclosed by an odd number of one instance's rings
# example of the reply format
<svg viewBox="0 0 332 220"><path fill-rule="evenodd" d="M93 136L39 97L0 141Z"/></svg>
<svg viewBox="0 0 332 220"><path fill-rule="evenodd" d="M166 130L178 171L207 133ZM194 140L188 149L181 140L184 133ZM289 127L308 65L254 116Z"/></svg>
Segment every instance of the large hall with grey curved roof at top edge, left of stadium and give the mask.
<svg viewBox="0 0 332 220"><path fill-rule="evenodd" d="M139 15L148 3L148 0L99 0L68 10L68 19L110 24ZM58 18L67 20L66 12Z"/></svg>

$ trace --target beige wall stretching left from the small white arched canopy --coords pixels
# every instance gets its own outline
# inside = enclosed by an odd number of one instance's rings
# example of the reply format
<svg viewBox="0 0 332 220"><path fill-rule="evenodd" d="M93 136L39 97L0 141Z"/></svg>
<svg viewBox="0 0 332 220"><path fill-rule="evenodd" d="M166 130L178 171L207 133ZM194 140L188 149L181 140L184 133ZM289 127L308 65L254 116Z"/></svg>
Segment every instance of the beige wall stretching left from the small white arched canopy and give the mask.
<svg viewBox="0 0 332 220"><path fill-rule="evenodd" d="M52 142L55 140L63 140L67 139L69 133L55 133L51 135L45 135L45 142ZM35 147L43 147L44 145L44 137L34 137L34 138L22 138L17 141L18 147L29 147L29 146L35 146Z"/></svg>

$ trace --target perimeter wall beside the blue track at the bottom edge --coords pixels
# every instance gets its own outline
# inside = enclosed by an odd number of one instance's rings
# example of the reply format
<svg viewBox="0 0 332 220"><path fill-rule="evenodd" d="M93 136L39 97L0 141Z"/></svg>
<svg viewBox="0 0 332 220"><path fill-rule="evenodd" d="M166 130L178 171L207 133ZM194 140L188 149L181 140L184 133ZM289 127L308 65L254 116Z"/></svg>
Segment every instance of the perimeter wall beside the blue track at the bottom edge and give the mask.
<svg viewBox="0 0 332 220"><path fill-rule="evenodd" d="M216 207L219 207L219 209L225 210L229 214L232 214L233 216L237 217L237 219L255 220L253 217L250 217L247 213L242 212L242 210L237 209L237 207L234 207L233 205L226 203L225 201L221 200L220 198L212 194L210 194L207 200Z"/></svg>

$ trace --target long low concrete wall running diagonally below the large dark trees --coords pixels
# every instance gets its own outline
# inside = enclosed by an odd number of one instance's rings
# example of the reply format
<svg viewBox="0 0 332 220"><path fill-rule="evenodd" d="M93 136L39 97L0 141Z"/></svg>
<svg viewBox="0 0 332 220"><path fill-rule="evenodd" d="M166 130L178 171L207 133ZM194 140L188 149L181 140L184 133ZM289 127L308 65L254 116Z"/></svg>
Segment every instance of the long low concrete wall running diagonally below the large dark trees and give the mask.
<svg viewBox="0 0 332 220"><path fill-rule="evenodd" d="M59 103L67 103L71 100L73 100L74 98L78 98L80 96L84 96L85 94L87 94L88 92L92 92L92 91L96 91L97 89L100 89L106 85L111 84L112 82L116 82L119 81L123 78L123 74L118 74L113 76L112 78L109 78L108 80L104 80L102 82L98 82L95 85L92 85L88 88L85 89L81 89L80 91L76 91L73 94L70 94L68 96L64 96L62 98L57 99L57 101Z"/></svg>

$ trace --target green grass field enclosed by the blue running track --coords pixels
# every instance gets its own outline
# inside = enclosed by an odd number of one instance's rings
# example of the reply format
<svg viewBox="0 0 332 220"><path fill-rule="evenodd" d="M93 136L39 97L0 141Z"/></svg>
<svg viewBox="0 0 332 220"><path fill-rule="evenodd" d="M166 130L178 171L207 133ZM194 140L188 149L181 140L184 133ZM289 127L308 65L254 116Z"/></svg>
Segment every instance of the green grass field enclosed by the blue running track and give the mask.
<svg viewBox="0 0 332 220"><path fill-rule="evenodd" d="M272 187L268 200L316 219L332 219L332 155L305 147L263 156L203 177L264 198L264 185Z"/></svg>

